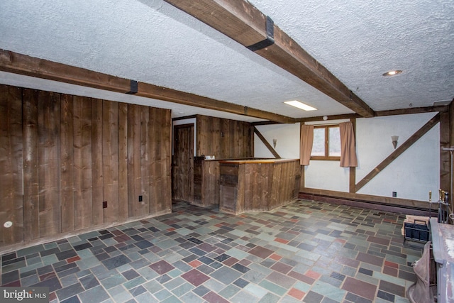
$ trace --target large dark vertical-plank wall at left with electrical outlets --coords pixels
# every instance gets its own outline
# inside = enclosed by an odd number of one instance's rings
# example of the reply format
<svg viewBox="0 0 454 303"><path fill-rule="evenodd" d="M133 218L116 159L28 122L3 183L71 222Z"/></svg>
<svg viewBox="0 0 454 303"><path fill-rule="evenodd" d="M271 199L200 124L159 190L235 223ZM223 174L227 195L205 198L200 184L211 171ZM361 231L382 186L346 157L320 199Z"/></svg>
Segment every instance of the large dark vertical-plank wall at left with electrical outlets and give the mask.
<svg viewBox="0 0 454 303"><path fill-rule="evenodd" d="M171 123L167 109L0 85L0 248L170 212Z"/></svg>

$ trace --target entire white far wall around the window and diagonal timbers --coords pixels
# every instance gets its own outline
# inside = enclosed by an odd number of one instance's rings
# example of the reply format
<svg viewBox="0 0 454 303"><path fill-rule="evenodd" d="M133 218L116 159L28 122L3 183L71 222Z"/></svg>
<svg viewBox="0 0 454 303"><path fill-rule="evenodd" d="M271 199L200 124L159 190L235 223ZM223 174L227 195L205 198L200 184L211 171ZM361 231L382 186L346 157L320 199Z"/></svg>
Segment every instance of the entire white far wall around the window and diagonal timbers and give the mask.
<svg viewBox="0 0 454 303"><path fill-rule="evenodd" d="M360 182L394 151L391 136L399 136L399 147L435 115L425 113L357 119L356 182ZM256 127L271 145L272 139L277 139L276 150L282 158L299 158L299 123ZM255 157L272 158L257 136L254 147ZM437 193L440 186L439 150L440 126L437 124L358 193L392 197L392 192L397 192L398 198L426 201L428 191ZM340 167L338 161L311 160L304 169L304 175L306 187L348 192L350 170Z"/></svg>

